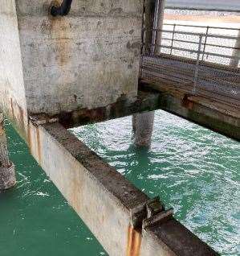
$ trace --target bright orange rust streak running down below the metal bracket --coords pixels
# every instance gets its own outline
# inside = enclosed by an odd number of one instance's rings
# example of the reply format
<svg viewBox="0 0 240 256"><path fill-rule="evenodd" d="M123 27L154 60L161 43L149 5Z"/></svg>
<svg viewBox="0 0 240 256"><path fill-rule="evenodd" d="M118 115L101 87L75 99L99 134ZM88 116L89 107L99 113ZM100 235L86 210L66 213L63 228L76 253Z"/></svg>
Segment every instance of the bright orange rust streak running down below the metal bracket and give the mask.
<svg viewBox="0 0 240 256"><path fill-rule="evenodd" d="M139 256L141 244L141 233L128 226L128 249L127 256Z"/></svg>

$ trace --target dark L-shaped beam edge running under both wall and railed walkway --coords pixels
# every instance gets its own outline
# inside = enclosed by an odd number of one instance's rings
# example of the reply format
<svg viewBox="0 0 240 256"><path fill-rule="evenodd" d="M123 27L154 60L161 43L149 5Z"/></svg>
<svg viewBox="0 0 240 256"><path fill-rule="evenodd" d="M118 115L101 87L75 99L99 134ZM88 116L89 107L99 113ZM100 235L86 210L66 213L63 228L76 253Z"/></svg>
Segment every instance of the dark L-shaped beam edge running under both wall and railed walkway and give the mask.
<svg viewBox="0 0 240 256"><path fill-rule="evenodd" d="M214 101L213 98L193 95L189 90L173 85L154 84L148 81L142 81L140 84L136 101L121 99L114 104L97 109L62 112L53 117L40 114L32 116L31 119L36 124L53 119L64 127L71 128L156 109L163 109L229 138L240 140L238 105L229 105L224 101Z"/></svg>

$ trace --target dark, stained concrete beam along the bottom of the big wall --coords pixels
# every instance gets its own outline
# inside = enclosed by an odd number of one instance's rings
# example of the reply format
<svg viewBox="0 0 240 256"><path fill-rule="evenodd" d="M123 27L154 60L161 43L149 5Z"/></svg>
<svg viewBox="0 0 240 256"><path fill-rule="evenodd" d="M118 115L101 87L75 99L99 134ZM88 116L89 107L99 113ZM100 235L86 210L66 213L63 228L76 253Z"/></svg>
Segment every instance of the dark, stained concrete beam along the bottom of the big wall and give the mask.
<svg viewBox="0 0 240 256"><path fill-rule="evenodd" d="M55 116L44 114L32 115L31 121L37 125L57 121L65 128L72 128L159 109L159 102L160 93L149 89L146 91L141 90L138 92L136 101L128 101L128 98L123 97L116 103L96 109L79 109L71 112L61 112Z"/></svg>

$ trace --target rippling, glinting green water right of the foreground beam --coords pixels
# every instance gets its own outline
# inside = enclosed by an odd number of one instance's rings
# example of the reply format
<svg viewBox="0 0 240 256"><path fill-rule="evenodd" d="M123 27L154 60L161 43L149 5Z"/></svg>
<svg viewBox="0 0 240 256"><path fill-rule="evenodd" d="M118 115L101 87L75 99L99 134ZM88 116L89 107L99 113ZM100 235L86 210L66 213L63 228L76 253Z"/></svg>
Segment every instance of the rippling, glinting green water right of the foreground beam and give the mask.
<svg viewBox="0 0 240 256"><path fill-rule="evenodd" d="M238 254L238 142L163 111L150 151L132 146L131 131L131 118L73 130L148 196L161 196L215 250Z"/></svg>

